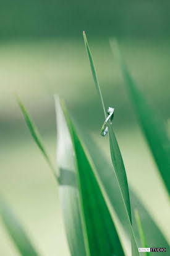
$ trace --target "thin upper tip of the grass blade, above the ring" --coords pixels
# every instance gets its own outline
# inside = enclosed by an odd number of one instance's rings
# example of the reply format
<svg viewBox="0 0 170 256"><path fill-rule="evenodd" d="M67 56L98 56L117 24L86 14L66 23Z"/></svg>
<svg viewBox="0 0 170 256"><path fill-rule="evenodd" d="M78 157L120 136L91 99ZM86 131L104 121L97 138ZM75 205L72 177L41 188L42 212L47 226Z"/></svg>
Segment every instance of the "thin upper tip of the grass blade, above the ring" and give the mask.
<svg viewBox="0 0 170 256"><path fill-rule="evenodd" d="M101 94L101 89L100 89L100 85L99 85L99 82L98 82L98 77L96 75L95 65L94 65L94 62L93 62L93 58L91 56L90 48L89 48L88 42L87 42L87 37L86 37L84 31L83 31L83 38L84 38L84 41L85 41L85 48L87 50L87 55L88 55L88 59L89 59L89 62L90 62L91 73L93 75L93 79L94 79L95 85L96 85L96 90L98 91L98 94L100 96L101 105L103 107L104 116L106 118L106 109L104 107L104 101L103 101L103 97L102 97L102 94Z"/></svg>

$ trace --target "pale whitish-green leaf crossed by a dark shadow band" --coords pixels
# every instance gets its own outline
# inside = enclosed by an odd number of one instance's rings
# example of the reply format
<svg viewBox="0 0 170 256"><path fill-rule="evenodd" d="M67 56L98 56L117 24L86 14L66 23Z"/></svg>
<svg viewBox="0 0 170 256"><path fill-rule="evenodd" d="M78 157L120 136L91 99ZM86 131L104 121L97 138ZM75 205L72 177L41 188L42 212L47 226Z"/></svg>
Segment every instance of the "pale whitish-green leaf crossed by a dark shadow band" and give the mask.
<svg viewBox="0 0 170 256"><path fill-rule="evenodd" d="M66 119L59 104L56 103L57 126L57 165L59 167L59 198L64 214L64 224L72 256L85 256L80 202L75 178L75 153L67 127Z"/></svg>

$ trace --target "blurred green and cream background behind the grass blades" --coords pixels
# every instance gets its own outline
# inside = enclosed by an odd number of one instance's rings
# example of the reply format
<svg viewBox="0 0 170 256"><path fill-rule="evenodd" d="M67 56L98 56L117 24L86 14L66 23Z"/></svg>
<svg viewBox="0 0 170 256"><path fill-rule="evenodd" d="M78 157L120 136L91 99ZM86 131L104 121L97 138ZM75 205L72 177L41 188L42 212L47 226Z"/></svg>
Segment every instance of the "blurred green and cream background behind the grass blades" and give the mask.
<svg viewBox="0 0 170 256"><path fill-rule="evenodd" d="M32 114L54 163L54 93L66 100L79 129L92 134L109 153L108 138L100 137L104 116L83 44L83 30L104 103L115 108L114 130L129 183L170 240L168 196L109 47L109 39L116 37L138 86L167 122L169 11L168 0L1 1L0 186L42 255L67 256L69 250L56 182L25 126L14 94L19 94ZM19 255L2 222L0 237L2 256Z"/></svg>

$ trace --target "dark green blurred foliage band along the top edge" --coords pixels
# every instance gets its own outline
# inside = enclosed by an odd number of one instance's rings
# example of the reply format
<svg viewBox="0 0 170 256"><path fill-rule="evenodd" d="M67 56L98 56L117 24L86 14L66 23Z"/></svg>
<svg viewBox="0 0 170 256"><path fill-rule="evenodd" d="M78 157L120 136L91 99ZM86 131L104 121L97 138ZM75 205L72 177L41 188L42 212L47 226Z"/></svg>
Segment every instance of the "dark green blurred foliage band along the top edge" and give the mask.
<svg viewBox="0 0 170 256"><path fill-rule="evenodd" d="M169 36L168 0L159 1L1 1L1 38ZM145 17L145 19L143 18Z"/></svg>

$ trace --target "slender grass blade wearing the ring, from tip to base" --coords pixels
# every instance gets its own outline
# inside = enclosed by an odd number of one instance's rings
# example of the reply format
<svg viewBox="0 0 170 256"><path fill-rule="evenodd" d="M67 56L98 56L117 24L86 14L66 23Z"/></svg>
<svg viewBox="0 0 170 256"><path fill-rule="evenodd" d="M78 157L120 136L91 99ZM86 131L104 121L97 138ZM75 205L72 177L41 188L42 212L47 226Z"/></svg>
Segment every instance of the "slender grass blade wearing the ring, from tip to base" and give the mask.
<svg viewBox="0 0 170 256"><path fill-rule="evenodd" d="M88 46L87 43L87 38L85 37L85 33L83 32L83 36L85 39L85 47L87 48L87 53L88 53L88 58L90 61L90 66L94 66L93 64L93 58L91 56L91 52L90 52L90 48ZM96 75L96 71L95 68L91 68L92 74L93 74L93 78L96 84L97 80L97 75ZM100 86L99 83L96 84L96 88L99 91ZM99 89L98 89L99 88ZM103 103L103 97L100 91L100 99L101 99L101 103ZM104 104L103 104L104 106ZM104 110L104 107L103 107ZM105 114L105 110L104 110L104 115L106 117ZM114 131L113 131L113 127L111 126L111 124L108 124L108 129L109 129L109 142L110 142L110 150L111 150L111 159L113 162L113 166L114 166L114 170L116 173L116 178L117 178L117 182L119 184L119 188L122 194L122 199L123 199L123 203L125 206L125 211L127 212L127 217L129 220L129 228L130 228L130 237L131 237L131 248L132 248L132 256L135 255L139 255L138 254L138 249L137 249L137 243L135 241L135 236L134 236L134 232L132 229L132 217L131 217L131 209L130 209L130 198L129 198L129 188L128 188L128 183L127 183L127 176L125 173L125 168L124 168L124 163L122 161L122 156L121 156L121 152L119 150L119 145L117 144L117 140L116 140L116 136L114 135Z"/></svg>

